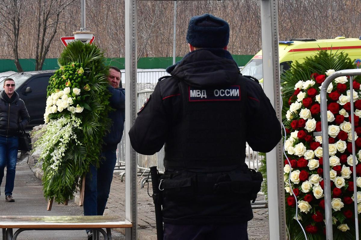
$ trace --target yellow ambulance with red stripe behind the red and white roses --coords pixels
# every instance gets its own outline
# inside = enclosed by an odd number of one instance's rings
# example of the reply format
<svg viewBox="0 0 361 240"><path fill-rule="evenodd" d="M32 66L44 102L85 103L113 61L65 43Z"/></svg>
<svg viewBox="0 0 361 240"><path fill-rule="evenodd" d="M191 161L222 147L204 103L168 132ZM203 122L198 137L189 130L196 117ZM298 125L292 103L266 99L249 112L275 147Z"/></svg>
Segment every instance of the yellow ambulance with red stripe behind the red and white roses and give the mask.
<svg viewBox="0 0 361 240"><path fill-rule="evenodd" d="M353 60L357 68L361 67L361 37L335 39L291 39L290 41L279 41L279 67L280 73L290 69L295 61L302 63L306 56L317 54L318 51L332 49L332 52L344 51ZM243 75L252 76L263 82L262 50L242 68Z"/></svg>

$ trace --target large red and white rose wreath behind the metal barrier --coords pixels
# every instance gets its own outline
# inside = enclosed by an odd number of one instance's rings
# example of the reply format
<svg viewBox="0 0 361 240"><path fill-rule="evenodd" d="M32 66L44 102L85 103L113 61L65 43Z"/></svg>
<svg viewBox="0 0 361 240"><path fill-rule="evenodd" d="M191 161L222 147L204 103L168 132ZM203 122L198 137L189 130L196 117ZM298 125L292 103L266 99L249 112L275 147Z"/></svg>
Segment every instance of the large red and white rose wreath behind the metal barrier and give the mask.
<svg viewBox="0 0 361 240"><path fill-rule="evenodd" d="M320 89L326 77L335 71L355 68L347 54L320 51L316 56L296 62L281 77L283 124L286 128L284 150L290 164L284 161L286 221L291 239L304 239L298 219L308 239L325 239L325 200L323 195L322 137ZM355 239L353 181L357 182L358 213L361 212L361 164L357 179L352 176L351 118L355 119L356 158L361 157L361 91L360 78L336 78L327 88L327 121L331 199L334 239ZM355 113L351 113L351 100ZM358 163L357 160L357 163ZM289 184L289 180L291 184ZM360 189L359 189L360 188ZM293 196L297 197L297 202Z"/></svg>

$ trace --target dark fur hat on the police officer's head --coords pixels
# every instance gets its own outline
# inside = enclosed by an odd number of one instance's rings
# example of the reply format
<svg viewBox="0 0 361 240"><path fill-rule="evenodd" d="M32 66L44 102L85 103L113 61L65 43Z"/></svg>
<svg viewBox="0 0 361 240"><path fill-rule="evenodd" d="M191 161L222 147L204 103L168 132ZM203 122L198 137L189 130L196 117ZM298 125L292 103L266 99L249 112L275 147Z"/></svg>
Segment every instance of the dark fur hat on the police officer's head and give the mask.
<svg viewBox="0 0 361 240"><path fill-rule="evenodd" d="M191 18L187 42L193 47L223 48L228 45L229 25L221 18L203 14Z"/></svg>

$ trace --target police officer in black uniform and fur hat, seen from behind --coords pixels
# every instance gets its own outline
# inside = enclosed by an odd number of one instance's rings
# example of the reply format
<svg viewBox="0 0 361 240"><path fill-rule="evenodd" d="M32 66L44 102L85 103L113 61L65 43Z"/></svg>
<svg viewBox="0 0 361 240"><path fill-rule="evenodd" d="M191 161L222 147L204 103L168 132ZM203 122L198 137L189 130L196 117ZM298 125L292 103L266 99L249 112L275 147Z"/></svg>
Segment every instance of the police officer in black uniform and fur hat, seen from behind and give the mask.
<svg viewBox="0 0 361 240"><path fill-rule="evenodd" d="M250 200L262 180L245 164L245 142L268 152L281 139L269 99L239 73L228 41L223 19L192 17L190 53L167 69L129 132L141 154L165 143L165 240L248 239Z"/></svg>

